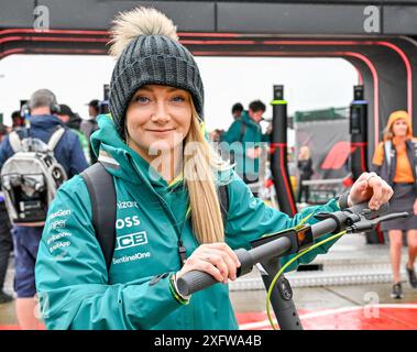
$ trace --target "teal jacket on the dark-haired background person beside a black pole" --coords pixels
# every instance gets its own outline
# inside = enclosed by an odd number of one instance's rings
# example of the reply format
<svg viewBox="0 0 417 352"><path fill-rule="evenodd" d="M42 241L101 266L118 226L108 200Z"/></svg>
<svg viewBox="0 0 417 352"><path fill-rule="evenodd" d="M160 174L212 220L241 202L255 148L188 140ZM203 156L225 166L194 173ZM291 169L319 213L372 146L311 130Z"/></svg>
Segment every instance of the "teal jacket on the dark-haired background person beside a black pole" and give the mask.
<svg viewBox="0 0 417 352"><path fill-rule="evenodd" d="M242 124L245 124L242 135ZM254 148L261 142L270 142L270 136L262 133L261 125L253 121L248 111L243 111L220 138L221 148L234 154L235 172L239 176L245 175L254 180L260 172L260 160L246 156L248 148ZM224 144L226 143L226 144ZM243 143L243 145L241 145Z"/></svg>

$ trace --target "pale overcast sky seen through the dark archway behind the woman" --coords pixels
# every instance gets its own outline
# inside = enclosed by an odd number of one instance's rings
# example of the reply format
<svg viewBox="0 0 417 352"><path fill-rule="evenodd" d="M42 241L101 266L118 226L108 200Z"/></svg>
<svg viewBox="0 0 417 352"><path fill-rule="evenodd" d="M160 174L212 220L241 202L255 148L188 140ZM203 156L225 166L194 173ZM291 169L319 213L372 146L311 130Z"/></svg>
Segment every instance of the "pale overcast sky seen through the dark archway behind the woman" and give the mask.
<svg viewBox="0 0 417 352"><path fill-rule="evenodd" d="M205 116L208 130L227 129L232 122L231 106L246 108L254 99L267 106L273 85L284 85L288 112L347 107L352 100L358 75L341 58L196 57L205 85ZM12 55L0 61L0 112L10 124L10 114L39 88L55 92L81 118L86 103L102 99L113 68L108 56Z"/></svg>

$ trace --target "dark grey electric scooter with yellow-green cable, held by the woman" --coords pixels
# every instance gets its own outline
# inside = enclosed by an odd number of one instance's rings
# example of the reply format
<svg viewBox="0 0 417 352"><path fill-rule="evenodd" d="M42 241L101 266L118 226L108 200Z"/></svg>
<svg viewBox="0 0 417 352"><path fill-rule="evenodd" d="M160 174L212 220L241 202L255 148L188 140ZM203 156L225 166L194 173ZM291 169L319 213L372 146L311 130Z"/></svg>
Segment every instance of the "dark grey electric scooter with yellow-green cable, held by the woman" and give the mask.
<svg viewBox="0 0 417 352"><path fill-rule="evenodd" d="M252 241L251 250L234 251L241 263L237 276L250 273L257 265L281 330L303 330L292 287L282 274L285 265L282 267L279 258L290 254L300 256L312 246L344 233L370 231L382 221L408 217L407 212L387 213L388 209L388 204L385 204L378 210L371 210L367 202L363 202L336 212L320 212L315 216L320 220L315 224L304 224ZM315 243L316 239L329 233L333 234L331 239ZM218 283L210 274L191 271L178 278L177 287L182 295L187 296Z"/></svg>

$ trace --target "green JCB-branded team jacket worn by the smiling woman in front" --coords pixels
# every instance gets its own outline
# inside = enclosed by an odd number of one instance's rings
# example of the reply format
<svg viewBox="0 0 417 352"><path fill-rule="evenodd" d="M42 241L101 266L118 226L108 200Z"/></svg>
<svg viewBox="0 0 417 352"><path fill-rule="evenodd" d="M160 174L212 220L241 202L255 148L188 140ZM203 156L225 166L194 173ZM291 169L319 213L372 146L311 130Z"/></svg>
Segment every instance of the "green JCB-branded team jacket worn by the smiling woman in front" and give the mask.
<svg viewBox="0 0 417 352"><path fill-rule="evenodd" d="M150 164L123 143L109 116L101 116L99 125L92 143L114 179L117 246L108 273L91 226L86 185L80 176L65 183L48 211L35 266L46 328L238 329L228 285L196 293L183 305L173 296L168 277L151 283L157 275L179 271L178 237L188 256L198 246L186 217L187 193L182 182L167 185L151 177ZM312 211L340 210L332 199L289 218L254 198L234 173L228 178L226 242L232 249L250 249L251 240L293 227ZM326 253L331 244L301 262Z"/></svg>

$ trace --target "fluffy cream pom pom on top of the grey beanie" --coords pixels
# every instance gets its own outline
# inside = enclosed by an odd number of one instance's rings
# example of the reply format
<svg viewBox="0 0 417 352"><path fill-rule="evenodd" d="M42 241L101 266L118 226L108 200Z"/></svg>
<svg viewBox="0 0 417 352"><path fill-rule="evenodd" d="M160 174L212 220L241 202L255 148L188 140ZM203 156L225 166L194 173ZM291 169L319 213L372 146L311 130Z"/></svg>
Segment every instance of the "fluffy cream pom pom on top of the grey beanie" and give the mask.
<svg viewBox="0 0 417 352"><path fill-rule="evenodd" d="M177 28L165 14L152 8L120 12L110 30L110 55L119 57L129 43L140 35L165 35L178 40Z"/></svg>

